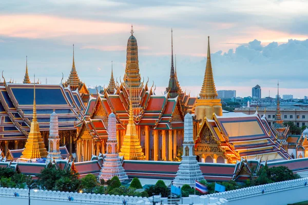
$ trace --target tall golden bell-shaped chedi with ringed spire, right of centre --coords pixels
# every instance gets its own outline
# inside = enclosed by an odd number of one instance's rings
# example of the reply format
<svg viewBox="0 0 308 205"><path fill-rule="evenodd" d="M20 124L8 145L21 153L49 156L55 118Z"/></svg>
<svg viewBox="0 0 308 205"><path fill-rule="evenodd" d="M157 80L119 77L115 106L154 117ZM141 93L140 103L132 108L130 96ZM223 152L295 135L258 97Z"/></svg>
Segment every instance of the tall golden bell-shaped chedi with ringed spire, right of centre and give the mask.
<svg viewBox="0 0 308 205"><path fill-rule="evenodd" d="M207 117L211 119L213 113L218 116L222 116L222 107L220 99L217 99L217 91L214 83L213 69L210 61L210 49L209 49L209 36L207 43L207 59L206 68L204 73L203 84L200 92L200 98L196 101L195 113L197 119L204 119Z"/></svg>

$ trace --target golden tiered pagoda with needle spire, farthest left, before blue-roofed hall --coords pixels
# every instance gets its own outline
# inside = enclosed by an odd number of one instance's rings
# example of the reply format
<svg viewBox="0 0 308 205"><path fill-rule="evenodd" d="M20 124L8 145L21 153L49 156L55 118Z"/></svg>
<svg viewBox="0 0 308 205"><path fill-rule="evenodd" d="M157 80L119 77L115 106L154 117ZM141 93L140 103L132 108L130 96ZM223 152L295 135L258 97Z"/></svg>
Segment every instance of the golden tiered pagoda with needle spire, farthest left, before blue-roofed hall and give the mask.
<svg viewBox="0 0 308 205"><path fill-rule="evenodd" d="M47 157L47 150L40 132L36 118L36 103L35 103L35 79L34 79L34 99L33 99L33 119L31 122L30 133L25 145L25 149L22 152L21 160L35 159Z"/></svg>

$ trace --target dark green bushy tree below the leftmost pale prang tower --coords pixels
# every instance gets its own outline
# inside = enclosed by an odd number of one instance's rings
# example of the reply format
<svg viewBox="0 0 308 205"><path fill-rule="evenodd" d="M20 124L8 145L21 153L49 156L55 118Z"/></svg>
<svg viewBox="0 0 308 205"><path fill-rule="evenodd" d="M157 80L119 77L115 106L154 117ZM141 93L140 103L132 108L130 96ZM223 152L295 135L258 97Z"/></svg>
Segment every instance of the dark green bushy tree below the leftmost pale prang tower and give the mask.
<svg viewBox="0 0 308 205"><path fill-rule="evenodd" d="M69 181L70 184L68 184ZM61 182L65 185L62 186ZM78 180L78 173L56 169L54 165L49 164L47 168L41 170L41 174L37 175L36 185L37 188L43 190L64 191L68 189L76 192L79 189L80 182ZM65 186L68 188L65 188Z"/></svg>

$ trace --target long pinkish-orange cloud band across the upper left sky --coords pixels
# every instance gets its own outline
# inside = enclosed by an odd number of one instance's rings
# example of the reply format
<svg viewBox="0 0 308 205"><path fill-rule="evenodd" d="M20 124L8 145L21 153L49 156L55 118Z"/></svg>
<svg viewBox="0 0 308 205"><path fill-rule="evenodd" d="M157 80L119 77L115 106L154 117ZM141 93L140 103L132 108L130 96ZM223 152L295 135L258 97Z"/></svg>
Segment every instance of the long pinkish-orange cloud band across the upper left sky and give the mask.
<svg viewBox="0 0 308 205"><path fill-rule="evenodd" d="M0 35L24 38L121 33L130 27L130 24L47 15L0 15L0 22ZM138 26L138 30L143 29Z"/></svg>

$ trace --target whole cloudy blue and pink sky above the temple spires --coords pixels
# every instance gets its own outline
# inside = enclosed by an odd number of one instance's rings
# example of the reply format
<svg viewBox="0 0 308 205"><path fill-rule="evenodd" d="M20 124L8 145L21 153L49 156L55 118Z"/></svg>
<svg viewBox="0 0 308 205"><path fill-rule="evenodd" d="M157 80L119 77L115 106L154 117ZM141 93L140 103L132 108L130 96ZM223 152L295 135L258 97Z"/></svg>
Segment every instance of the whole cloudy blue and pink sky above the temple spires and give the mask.
<svg viewBox="0 0 308 205"><path fill-rule="evenodd" d="M21 83L29 74L58 84L75 65L87 86L107 85L111 60L123 78L126 44L133 24L140 73L161 94L170 73L170 30L183 90L197 95L206 62L207 36L217 89L251 95L308 95L308 3L305 1L2 1L0 70Z"/></svg>

